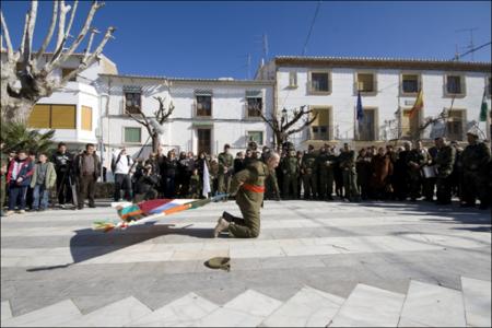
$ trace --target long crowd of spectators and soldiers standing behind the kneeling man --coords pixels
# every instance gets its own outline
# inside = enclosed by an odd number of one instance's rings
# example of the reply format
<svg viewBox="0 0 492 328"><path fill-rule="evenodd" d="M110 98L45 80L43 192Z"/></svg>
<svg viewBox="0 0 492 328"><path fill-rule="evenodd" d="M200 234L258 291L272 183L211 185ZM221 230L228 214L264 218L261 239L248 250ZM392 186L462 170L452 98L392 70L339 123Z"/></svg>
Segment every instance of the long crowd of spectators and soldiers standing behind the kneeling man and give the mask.
<svg viewBox="0 0 492 328"><path fill-rule="evenodd" d="M462 207L490 206L491 152L476 132L467 133L468 144L436 138L429 149L421 141L403 147L367 147L358 152L345 143L342 148L309 145L296 151L282 145L280 165L266 180L266 199L305 199L345 201L410 200L449 204L458 197ZM2 143L3 148L3 143ZM137 159L120 149L113 154L114 201L142 201L155 198L202 198L203 178L209 176L210 194L229 192L232 176L254 161L266 161L270 149L257 149L255 142L233 156L231 147L218 156L175 150L164 154L162 148L148 159ZM50 190L62 208L95 207L95 186L101 177L101 160L94 144L86 144L77 155L62 142L54 154L32 154L20 150L3 154L1 167L2 215L17 210L46 210ZM206 174L206 171L208 174ZM8 210L3 204L8 196ZM435 198L434 198L435 197Z"/></svg>

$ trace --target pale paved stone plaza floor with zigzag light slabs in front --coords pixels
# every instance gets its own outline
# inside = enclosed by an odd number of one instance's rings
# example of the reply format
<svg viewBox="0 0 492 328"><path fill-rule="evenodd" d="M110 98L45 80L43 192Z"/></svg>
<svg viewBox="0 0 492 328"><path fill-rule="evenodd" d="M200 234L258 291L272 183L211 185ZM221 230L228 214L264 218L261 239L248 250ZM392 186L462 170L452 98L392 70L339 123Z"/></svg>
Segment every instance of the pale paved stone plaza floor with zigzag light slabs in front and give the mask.
<svg viewBox="0 0 492 328"><path fill-rule="evenodd" d="M224 210L108 234L107 204L1 218L1 326L491 325L490 211L266 201L257 239L213 239Z"/></svg>

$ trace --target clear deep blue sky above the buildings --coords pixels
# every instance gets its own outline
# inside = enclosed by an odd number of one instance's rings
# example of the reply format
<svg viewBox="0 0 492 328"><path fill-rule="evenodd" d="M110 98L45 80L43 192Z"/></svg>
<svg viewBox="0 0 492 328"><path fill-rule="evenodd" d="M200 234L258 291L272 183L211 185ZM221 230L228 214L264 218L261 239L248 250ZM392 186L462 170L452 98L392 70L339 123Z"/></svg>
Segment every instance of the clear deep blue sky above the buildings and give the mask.
<svg viewBox="0 0 492 328"><path fill-rule="evenodd" d="M69 3L71 1L68 1ZM184 78L248 78L262 57L302 55L318 1L106 1L94 24L117 27L105 48L120 73ZM19 45L27 1L3 1L12 42ZM82 1L72 31L79 31L90 2ZM34 45L48 28L51 2L39 3ZM465 52L469 32L476 46L491 40L491 1L323 1L308 56L450 59ZM37 37L36 37L37 36ZM83 47L80 49L82 50ZM473 54L490 61L491 46ZM464 60L471 60L468 55Z"/></svg>

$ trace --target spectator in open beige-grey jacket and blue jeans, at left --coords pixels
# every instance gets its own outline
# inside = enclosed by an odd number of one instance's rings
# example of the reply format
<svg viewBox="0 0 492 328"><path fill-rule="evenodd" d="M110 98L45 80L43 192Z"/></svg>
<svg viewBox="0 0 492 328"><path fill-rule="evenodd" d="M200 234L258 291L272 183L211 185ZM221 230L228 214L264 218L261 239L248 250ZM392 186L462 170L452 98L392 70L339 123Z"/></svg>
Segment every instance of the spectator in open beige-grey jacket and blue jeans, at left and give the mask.
<svg viewBox="0 0 492 328"><path fill-rule="evenodd" d="M31 188L33 188L33 211L44 211L48 208L49 191L57 183L55 165L48 162L48 155L39 154L39 162L34 167Z"/></svg>

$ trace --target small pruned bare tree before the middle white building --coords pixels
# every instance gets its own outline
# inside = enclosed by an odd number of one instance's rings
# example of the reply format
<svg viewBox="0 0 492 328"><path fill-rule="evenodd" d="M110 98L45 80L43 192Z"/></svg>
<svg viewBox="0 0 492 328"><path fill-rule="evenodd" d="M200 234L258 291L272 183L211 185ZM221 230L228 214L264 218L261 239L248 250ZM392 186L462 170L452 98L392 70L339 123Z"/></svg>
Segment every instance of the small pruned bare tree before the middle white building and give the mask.
<svg viewBox="0 0 492 328"><path fill-rule="evenodd" d="M145 127L147 131L149 132L149 136L152 137L152 151L156 152L160 145L160 138L159 138L160 133L157 131L159 128L156 128L155 125L159 124L159 126L162 126L171 116L171 114L173 114L175 107L173 105L173 102L171 102L169 107L166 108L164 105L165 98L162 97L153 97L153 98L159 102L159 109L154 112L155 118L147 116L141 107L137 107L139 112L138 114L131 114L128 110L126 113L137 122Z"/></svg>

